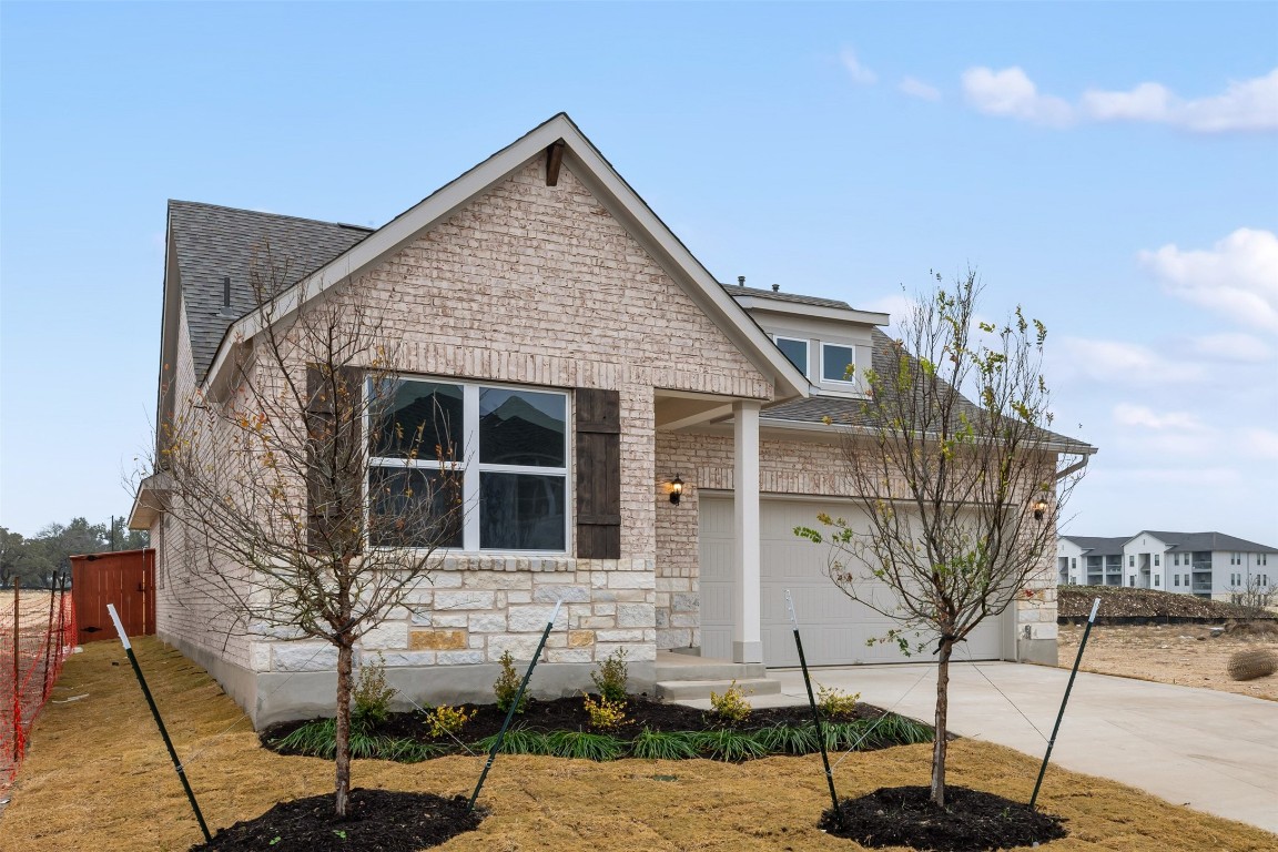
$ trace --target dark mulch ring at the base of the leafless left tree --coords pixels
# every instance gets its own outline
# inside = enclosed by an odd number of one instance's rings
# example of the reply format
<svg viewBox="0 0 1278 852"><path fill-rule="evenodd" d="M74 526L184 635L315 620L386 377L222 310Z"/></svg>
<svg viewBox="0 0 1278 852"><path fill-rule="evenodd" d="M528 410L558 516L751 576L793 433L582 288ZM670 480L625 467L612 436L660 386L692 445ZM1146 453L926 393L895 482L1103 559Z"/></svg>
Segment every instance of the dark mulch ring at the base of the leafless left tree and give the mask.
<svg viewBox="0 0 1278 852"><path fill-rule="evenodd" d="M475 809L477 811L479 809ZM219 829L212 843L190 852L417 852L479 825L466 798L389 789L353 789L344 820L332 812L332 795L280 802L257 819Z"/></svg>

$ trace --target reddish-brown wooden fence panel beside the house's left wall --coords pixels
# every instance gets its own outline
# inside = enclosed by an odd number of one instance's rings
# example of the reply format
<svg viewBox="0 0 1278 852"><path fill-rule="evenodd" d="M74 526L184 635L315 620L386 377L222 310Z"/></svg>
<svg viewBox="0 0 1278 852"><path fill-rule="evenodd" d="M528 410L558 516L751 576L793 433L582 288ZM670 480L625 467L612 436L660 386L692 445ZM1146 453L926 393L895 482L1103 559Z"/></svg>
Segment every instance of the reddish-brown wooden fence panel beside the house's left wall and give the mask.
<svg viewBox="0 0 1278 852"><path fill-rule="evenodd" d="M155 549L119 551L72 557L72 595L81 644L115 639L106 604L114 603L124 632L156 631Z"/></svg>

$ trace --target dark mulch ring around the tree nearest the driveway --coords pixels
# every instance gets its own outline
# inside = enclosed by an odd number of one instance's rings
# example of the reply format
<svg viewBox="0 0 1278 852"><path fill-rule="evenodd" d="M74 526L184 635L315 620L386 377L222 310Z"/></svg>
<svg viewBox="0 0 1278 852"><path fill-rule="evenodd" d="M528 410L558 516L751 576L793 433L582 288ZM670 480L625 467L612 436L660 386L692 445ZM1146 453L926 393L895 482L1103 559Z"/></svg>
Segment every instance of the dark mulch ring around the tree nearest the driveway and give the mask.
<svg viewBox="0 0 1278 852"><path fill-rule="evenodd" d="M1066 835L1059 816L966 787L946 787L946 806L927 787L891 787L840 802L842 825L827 809L819 828L861 846L909 846L935 852L1008 849Z"/></svg>

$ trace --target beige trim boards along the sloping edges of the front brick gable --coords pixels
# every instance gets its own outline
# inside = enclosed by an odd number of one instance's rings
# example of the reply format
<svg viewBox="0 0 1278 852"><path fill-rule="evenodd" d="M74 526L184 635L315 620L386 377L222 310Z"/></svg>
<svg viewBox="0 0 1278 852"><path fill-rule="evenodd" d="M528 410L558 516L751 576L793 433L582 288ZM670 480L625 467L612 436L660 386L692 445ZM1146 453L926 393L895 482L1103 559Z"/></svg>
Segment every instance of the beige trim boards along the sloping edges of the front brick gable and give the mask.
<svg viewBox="0 0 1278 852"><path fill-rule="evenodd" d="M308 271L276 299L273 316L277 319L285 318L328 287L359 275L387 254L406 245L423 230L505 180L530 160L542 156L556 143L562 143L564 165L569 166L573 174L599 198L610 213L684 287L743 354L773 378L776 396L778 399L806 396L810 387L808 379L786 360L763 330L723 291L564 112L534 128L382 227L364 235L363 239L354 240L349 248L318 268ZM263 328L265 321L261 310L253 310L224 331L207 370L206 382L217 381L224 365L231 358L231 341L253 337Z"/></svg>

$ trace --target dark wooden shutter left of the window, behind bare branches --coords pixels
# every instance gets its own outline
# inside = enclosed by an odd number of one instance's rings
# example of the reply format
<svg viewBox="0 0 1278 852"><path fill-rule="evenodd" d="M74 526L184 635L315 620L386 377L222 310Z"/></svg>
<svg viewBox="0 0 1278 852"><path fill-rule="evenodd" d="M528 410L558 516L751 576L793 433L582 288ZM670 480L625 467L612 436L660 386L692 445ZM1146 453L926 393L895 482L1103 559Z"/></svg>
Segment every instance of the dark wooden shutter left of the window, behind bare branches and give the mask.
<svg viewBox="0 0 1278 852"><path fill-rule="evenodd" d="M362 381L353 367L330 378L307 365L307 542L327 553L358 552L363 535Z"/></svg>

